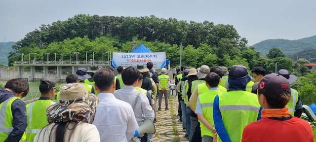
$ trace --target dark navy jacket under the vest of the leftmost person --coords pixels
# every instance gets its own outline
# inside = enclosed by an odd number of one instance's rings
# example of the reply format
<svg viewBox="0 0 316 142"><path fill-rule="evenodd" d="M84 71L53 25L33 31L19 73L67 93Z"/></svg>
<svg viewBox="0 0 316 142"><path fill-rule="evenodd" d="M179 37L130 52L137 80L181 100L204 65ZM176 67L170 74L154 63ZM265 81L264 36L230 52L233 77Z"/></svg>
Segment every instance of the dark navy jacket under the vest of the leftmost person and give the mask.
<svg viewBox="0 0 316 142"><path fill-rule="evenodd" d="M14 93L0 89L0 103L5 100L16 97ZM12 114L13 114L13 131L9 134L4 142L19 142L25 132L27 124L27 116L26 116L26 106L25 103L17 99L12 102L11 105Z"/></svg>

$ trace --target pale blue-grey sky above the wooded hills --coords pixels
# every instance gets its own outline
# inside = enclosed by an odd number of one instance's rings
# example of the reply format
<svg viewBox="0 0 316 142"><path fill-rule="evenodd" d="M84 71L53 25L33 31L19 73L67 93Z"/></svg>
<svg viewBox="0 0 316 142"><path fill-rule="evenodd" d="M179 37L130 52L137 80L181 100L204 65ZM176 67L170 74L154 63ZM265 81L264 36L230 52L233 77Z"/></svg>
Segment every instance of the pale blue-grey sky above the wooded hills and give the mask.
<svg viewBox="0 0 316 142"><path fill-rule="evenodd" d="M253 45L316 35L316 0L0 0L0 42L77 14L150 16L233 25Z"/></svg>

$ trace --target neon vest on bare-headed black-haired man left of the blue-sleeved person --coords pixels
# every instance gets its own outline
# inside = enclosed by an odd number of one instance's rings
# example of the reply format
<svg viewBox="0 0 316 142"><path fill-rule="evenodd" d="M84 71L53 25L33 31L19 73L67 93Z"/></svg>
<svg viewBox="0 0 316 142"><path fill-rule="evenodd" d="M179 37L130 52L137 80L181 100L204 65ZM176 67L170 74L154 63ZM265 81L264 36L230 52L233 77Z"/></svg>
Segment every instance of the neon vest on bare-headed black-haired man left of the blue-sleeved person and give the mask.
<svg viewBox="0 0 316 142"><path fill-rule="evenodd" d="M219 90L209 90L205 93L200 94L199 102L202 106L203 117L214 127L214 119L213 119L213 102L215 96L221 94L222 92ZM199 120L198 120L199 121ZM201 136L211 136L214 138L214 133L209 130L207 127L203 125L201 121L199 121L201 127Z"/></svg>

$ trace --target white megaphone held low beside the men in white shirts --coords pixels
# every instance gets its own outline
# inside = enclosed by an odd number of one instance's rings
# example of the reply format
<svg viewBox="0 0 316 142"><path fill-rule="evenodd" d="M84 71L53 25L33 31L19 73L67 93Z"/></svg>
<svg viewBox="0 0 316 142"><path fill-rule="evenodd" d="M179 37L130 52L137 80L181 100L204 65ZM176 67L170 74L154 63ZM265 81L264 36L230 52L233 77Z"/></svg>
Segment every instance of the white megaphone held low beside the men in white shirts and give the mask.
<svg viewBox="0 0 316 142"><path fill-rule="evenodd" d="M138 129L135 130L134 137L145 133L155 133L156 128L153 120L146 118L143 124L139 125Z"/></svg>

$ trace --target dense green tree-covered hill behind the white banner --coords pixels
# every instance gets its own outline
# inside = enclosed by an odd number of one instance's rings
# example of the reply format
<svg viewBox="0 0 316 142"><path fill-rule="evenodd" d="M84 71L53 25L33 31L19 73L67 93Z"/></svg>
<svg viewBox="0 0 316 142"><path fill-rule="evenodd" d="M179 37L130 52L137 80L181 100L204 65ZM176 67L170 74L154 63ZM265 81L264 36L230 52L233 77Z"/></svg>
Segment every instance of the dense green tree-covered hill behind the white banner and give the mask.
<svg viewBox="0 0 316 142"><path fill-rule="evenodd" d="M268 58L261 57L255 47L247 45L246 38L238 35L233 25L163 19L154 15L115 17L79 14L66 21L41 25L39 29L28 33L12 45L13 51L9 53L8 65L13 66L14 61L21 60L21 55L24 55L22 58L25 61L29 60L28 54L36 54L36 60L39 61L40 55L45 53L50 53L48 58L54 61L55 53L57 60L61 59L61 53L65 56L64 60L69 54L73 54L71 60L76 60L74 55L79 52L79 60L83 61L85 53L88 59L92 59L94 52L94 59L99 61L102 58L108 59L109 54L102 56L102 52L130 52L133 46L140 44L149 47L153 52L166 52L171 66L179 66L182 48L182 65L192 68L201 65L228 68L244 65L249 71L262 66L268 73L286 69L298 76L311 74L305 66L294 66L297 64L285 57L279 48L269 50ZM301 87L309 83L305 81L296 86ZM316 82L309 85L315 86ZM316 89L316 86L314 88ZM304 93L301 92L302 98ZM311 100L305 97L304 99Z"/></svg>

